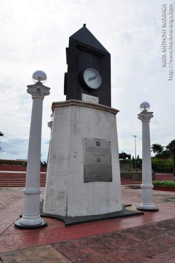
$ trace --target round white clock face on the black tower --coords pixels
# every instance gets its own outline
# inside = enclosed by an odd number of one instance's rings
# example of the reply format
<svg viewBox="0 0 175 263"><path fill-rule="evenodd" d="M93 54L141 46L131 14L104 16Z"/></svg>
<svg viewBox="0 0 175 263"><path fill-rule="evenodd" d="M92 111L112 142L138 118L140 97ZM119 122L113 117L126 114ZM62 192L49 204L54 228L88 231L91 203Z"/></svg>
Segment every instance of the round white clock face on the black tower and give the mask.
<svg viewBox="0 0 175 263"><path fill-rule="evenodd" d="M102 78L95 68L86 68L83 71L83 81L90 89L96 90L101 86Z"/></svg>

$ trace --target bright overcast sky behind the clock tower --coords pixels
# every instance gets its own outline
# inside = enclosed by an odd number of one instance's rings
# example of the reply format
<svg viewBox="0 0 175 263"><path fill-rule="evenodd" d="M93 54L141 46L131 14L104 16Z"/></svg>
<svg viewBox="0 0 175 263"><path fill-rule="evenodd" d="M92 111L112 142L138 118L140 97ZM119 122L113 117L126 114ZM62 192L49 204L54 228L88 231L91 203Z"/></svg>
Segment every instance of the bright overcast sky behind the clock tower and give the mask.
<svg viewBox="0 0 175 263"><path fill-rule="evenodd" d="M166 3L166 67L161 66L161 4ZM1 159L26 159L32 99L26 85L43 70L50 95L43 103L42 160L47 160L52 102L65 101L65 48L83 24L111 54L112 107L119 152L142 157L143 101L150 103L151 144L175 139L174 80L168 80L168 4L159 0L0 0ZM173 39L175 25L172 22ZM175 68L175 40L172 68ZM153 154L152 154L153 155Z"/></svg>

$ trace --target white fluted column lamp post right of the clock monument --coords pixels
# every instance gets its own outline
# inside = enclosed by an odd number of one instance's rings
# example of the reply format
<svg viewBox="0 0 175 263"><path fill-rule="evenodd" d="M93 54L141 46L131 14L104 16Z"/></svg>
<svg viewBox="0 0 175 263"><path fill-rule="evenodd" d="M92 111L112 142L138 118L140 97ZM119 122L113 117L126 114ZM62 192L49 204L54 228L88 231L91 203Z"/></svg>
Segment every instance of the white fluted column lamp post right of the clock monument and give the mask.
<svg viewBox="0 0 175 263"><path fill-rule="evenodd" d="M150 142L150 119L153 112L149 112L150 104L143 102L140 105L141 113L137 114L142 121L142 202L137 207L138 210L157 211L159 210L153 203L153 184L151 167L151 142Z"/></svg>

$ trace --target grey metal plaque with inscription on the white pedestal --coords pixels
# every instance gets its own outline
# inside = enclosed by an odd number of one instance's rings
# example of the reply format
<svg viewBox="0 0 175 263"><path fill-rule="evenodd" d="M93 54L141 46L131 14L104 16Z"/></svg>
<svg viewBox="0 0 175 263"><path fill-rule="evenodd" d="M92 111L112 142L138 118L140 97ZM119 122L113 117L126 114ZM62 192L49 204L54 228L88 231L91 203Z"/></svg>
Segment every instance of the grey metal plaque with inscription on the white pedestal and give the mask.
<svg viewBox="0 0 175 263"><path fill-rule="evenodd" d="M110 141L84 138L84 182L112 182Z"/></svg>

